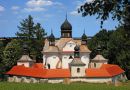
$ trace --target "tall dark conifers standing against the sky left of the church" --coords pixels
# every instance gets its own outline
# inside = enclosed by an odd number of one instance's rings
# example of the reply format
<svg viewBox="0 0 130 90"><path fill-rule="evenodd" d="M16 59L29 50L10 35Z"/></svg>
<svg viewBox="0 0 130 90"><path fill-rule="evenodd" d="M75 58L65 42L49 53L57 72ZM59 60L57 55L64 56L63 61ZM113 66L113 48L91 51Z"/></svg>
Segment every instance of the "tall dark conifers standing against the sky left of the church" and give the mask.
<svg viewBox="0 0 130 90"><path fill-rule="evenodd" d="M29 55L33 58L38 57L42 59L41 49L46 33L40 23L35 24L33 17L29 15L27 19L20 22L18 28L19 31L16 35L18 38L21 38L21 43L26 42L28 44Z"/></svg>

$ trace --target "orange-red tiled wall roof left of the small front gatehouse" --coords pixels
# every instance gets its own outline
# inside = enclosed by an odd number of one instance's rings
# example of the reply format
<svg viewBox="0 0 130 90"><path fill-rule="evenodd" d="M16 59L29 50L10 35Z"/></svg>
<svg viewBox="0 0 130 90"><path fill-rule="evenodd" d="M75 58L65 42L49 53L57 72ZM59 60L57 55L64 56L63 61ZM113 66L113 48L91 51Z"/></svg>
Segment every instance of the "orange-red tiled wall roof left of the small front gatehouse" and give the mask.
<svg viewBox="0 0 130 90"><path fill-rule="evenodd" d="M36 68L36 67L27 68L21 65L21 66L14 66L6 74L18 75L18 76L31 76L31 77L38 77L38 78L63 78L63 77L70 77L70 70L44 69L44 68Z"/></svg>

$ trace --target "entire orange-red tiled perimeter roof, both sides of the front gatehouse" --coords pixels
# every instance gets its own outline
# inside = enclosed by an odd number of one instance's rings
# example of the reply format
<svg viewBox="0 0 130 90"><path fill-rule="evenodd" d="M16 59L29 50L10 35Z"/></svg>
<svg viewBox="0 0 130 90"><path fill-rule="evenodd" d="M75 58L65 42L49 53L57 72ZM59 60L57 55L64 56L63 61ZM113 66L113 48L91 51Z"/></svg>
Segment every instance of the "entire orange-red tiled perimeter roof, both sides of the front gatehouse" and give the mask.
<svg viewBox="0 0 130 90"><path fill-rule="evenodd" d="M69 69L44 69L42 64L35 64L27 68L23 65L14 66L6 74L18 76L30 76L38 78L66 78L71 77ZM103 64L99 69L86 69L86 77L112 77L123 73L118 65Z"/></svg>

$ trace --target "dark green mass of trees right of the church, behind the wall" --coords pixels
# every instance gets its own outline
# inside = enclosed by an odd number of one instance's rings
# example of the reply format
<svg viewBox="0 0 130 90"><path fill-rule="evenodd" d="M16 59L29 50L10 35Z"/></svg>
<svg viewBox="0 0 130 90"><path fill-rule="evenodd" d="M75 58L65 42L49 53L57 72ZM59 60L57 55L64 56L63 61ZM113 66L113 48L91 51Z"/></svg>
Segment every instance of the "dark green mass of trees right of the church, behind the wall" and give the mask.
<svg viewBox="0 0 130 90"><path fill-rule="evenodd" d="M109 59L108 63L117 64L122 67L127 76L130 68L130 47L127 46L125 30L119 27L113 31L101 30L88 43L88 47L92 50L91 58L97 54L96 48L101 45L101 54ZM129 76L128 76L129 77Z"/></svg>

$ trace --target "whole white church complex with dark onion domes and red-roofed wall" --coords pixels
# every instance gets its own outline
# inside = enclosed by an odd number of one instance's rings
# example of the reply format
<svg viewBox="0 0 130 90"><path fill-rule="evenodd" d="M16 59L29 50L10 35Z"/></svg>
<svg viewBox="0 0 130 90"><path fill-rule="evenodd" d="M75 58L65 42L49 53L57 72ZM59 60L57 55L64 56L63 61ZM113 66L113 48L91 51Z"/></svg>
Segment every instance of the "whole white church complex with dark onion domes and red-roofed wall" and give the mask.
<svg viewBox="0 0 130 90"><path fill-rule="evenodd" d="M90 59L85 32L81 38L72 37L72 25L66 18L61 25L61 37L53 32L45 40L43 63L36 63L26 53L17 65L6 73L9 82L63 83L90 82L107 83L125 78L124 70L118 65L107 64L100 53ZM100 51L100 48L97 49ZM40 52L40 51L39 51Z"/></svg>

